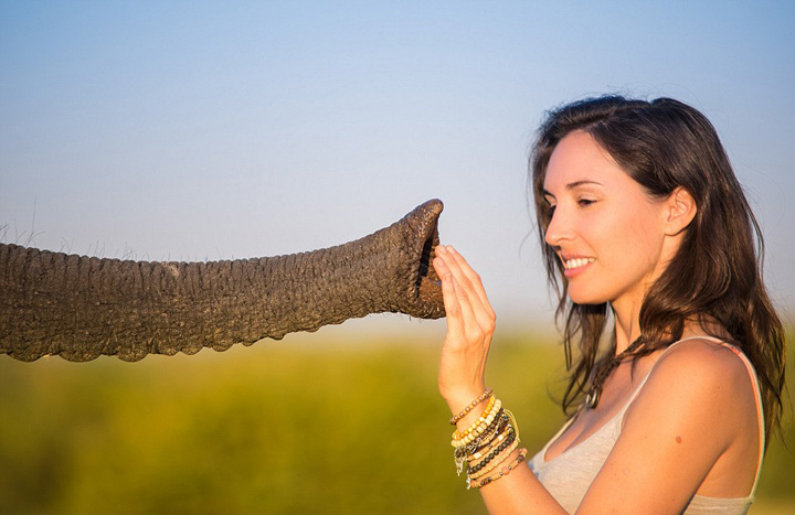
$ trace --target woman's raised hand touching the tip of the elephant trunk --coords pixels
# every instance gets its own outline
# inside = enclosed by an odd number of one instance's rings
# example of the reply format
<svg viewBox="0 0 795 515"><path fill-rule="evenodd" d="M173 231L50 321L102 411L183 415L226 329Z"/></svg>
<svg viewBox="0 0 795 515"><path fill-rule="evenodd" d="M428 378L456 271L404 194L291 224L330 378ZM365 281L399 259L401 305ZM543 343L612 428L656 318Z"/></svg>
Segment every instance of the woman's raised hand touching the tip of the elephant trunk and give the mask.
<svg viewBox="0 0 795 515"><path fill-rule="evenodd" d="M497 316L480 277L453 247L436 247L433 266L442 278L447 313L439 393L451 410L458 412L486 389L486 358Z"/></svg>

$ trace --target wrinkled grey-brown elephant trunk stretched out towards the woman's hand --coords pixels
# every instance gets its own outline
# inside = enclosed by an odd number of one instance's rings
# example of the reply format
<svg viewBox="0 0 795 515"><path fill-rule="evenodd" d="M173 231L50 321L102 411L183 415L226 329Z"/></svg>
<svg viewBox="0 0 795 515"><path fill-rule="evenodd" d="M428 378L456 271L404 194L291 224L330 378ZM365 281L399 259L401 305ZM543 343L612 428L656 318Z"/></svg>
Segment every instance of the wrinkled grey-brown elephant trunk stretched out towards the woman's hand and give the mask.
<svg viewBox="0 0 795 515"><path fill-rule="evenodd" d="M83 362L224 351L369 313L444 316L431 260L443 204L310 253L212 262L80 257L0 245L0 353Z"/></svg>

